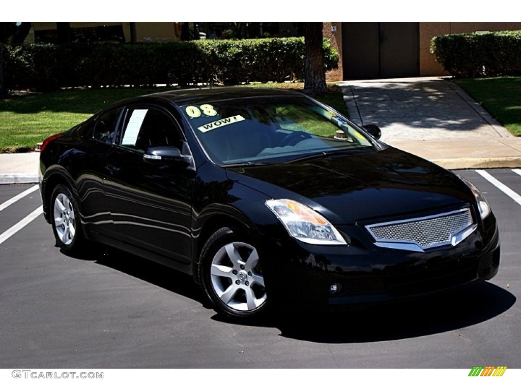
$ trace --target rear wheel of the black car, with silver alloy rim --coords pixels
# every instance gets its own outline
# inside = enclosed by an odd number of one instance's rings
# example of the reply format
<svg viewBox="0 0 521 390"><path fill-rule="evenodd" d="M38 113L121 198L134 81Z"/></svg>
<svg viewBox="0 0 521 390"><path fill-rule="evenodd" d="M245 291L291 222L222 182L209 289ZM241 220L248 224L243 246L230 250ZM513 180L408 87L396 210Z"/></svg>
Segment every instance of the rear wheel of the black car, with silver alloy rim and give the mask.
<svg viewBox="0 0 521 390"><path fill-rule="evenodd" d="M51 223L59 248L68 254L84 248L85 237L76 199L70 189L58 185L51 196Z"/></svg>

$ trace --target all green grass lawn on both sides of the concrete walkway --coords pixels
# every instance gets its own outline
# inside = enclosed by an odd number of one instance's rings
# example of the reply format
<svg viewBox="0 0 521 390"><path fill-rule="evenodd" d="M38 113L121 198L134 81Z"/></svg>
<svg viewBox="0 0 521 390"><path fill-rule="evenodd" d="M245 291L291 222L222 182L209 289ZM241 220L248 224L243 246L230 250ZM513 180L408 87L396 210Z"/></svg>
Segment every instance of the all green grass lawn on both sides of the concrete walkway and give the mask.
<svg viewBox="0 0 521 390"><path fill-rule="evenodd" d="M521 136L521 77L455 81L512 134ZM250 84L245 87L290 88L303 83ZM17 93L0 100L0 152L25 152L49 135L65 131L110 103L171 88L64 89L56 92ZM348 115L340 87L316 98Z"/></svg>

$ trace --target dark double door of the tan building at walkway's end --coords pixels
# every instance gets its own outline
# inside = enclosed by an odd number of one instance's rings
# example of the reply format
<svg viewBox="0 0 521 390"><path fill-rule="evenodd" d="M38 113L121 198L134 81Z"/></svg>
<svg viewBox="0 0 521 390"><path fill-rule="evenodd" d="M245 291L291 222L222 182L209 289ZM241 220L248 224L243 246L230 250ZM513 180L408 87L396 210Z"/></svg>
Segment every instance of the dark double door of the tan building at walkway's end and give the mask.
<svg viewBox="0 0 521 390"><path fill-rule="evenodd" d="M419 75L417 22L344 22L342 49L344 80Z"/></svg>

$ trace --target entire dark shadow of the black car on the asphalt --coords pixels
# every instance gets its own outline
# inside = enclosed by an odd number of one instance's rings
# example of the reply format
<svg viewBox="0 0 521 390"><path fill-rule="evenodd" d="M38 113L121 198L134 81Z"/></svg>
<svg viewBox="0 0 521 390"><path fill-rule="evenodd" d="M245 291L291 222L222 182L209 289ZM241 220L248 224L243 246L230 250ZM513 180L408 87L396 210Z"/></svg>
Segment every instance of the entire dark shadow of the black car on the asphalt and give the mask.
<svg viewBox="0 0 521 390"><path fill-rule="evenodd" d="M102 244L74 258L125 272L132 277L211 306L193 277L142 257ZM280 336L316 343L365 343L407 339L442 332L458 331L500 316L516 302L507 290L490 282L481 282L451 294L380 304L365 309L334 313L295 313L272 311L255 320L234 321L208 311L217 322L252 328L277 328Z"/></svg>

